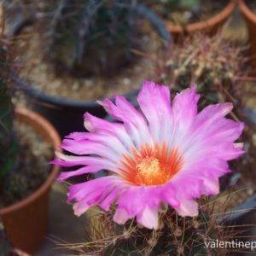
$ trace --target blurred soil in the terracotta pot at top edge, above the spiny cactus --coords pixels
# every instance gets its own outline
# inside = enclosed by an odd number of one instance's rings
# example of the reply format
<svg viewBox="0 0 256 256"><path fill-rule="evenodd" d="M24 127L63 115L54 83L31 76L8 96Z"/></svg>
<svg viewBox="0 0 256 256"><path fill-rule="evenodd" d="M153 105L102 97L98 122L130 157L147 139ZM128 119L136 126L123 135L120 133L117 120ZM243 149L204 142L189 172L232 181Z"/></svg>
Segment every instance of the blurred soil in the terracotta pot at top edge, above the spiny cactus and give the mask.
<svg viewBox="0 0 256 256"><path fill-rule="evenodd" d="M229 1L198 0L195 1L194 6L180 6L179 1L168 0L152 0L150 3L153 6L154 11L165 20L169 20L175 25L186 26L189 23L207 20L218 14L221 9L224 9Z"/></svg>

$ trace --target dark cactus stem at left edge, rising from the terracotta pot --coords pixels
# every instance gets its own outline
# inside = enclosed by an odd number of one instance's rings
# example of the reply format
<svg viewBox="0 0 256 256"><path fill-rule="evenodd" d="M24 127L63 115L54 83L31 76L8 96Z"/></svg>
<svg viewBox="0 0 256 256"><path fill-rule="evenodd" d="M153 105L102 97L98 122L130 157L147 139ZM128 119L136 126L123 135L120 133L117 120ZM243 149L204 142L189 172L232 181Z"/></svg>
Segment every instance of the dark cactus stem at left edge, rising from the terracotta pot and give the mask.
<svg viewBox="0 0 256 256"><path fill-rule="evenodd" d="M14 106L9 92L9 57L0 45L0 183L13 169L17 144L13 135Z"/></svg>

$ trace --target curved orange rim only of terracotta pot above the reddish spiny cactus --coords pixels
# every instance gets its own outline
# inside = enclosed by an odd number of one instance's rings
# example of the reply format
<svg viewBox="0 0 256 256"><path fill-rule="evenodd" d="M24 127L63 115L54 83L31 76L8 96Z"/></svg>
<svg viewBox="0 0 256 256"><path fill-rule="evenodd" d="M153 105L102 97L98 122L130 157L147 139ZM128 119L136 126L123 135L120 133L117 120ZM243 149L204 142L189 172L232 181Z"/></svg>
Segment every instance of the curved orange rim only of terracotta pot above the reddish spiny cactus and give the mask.
<svg viewBox="0 0 256 256"><path fill-rule="evenodd" d="M207 20L201 20L198 22L189 23L187 26L173 25L171 21L166 21L166 26L171 33L183 33L183 32L198 32L217 26L222 21L226 20L236 7L236 1L230 0L224 9L220 10L216 15L213 15Z"/></svg>

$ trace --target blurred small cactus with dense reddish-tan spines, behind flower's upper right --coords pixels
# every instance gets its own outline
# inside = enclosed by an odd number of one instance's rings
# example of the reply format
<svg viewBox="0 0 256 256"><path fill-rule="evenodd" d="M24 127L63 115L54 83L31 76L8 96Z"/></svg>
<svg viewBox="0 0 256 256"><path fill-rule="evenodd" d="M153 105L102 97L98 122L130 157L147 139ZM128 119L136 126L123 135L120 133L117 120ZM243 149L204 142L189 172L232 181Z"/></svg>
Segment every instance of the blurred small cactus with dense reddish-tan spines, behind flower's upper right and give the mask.
<svg viewBox="0 0 256 256"><path fill-rule="evenodd" d="M204 96L201 106L228 101L237 107L241 86L236 77L247 73L245 61L242 48L227 43L223 32L212 38L197 33L174 45L170 55L159 56L154 73L160 83L170 84L177 92L197 84Z"/></svg>

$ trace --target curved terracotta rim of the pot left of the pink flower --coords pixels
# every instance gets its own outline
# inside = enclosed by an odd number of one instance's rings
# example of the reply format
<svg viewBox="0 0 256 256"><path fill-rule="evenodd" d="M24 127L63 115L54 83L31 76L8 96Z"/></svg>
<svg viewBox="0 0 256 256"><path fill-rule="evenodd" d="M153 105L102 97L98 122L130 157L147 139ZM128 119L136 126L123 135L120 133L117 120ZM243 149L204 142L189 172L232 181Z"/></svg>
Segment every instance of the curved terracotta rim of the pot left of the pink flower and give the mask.
<svg viewBox="0 0 256 256"><path fill-rule="evenodd" d="M54 126L51 125L47 119L44 119L43 116L33 112L32 110L18 107L15 108L15 118L31 125L38 133L40 133L40 131L38 131L37 127L41 127L41 133L42 136L44 136L44 139L49 140L49 142L53 144L55 151L61 152L61 137L55 130ZM50 188L51 184L55 182L59 169L59 166L53 166L49 177L47 177L44 183L37 190L32 192L31 195L26 196L21 201L17 201L8 207L0 208L0 216L8 214L9 212L17 211L19 208L26 207L26 205L30 204L32 201L37 200L38 197L43 195Z"/></svg>

